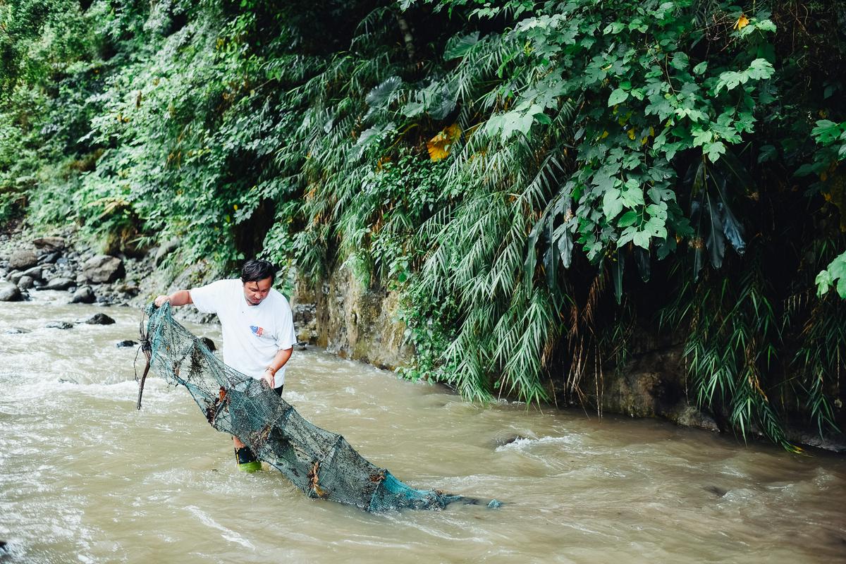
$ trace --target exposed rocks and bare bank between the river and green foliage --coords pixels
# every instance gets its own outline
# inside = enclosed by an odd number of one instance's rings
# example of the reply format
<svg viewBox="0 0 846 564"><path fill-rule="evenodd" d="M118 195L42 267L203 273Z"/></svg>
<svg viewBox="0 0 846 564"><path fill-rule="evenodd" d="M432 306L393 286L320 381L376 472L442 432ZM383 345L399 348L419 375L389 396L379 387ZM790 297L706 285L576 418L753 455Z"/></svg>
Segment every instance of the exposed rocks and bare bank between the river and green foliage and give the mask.
<svg viewBox="0 0 846 564"><path fill-rule="evenodd" d="M45 239L48 243L52 241L53 247L47 244L45 248ZM58 240L62 248L57 250ZM200 286L220 276L204 260L185 266L179 260L179 241L169 241L137 257L105 255L98 252L96 245L80 238L73 227L52 233L36 233L26 227L17 227L11 233L0 233L0 281L7 285L10 277L19 281L22 276L18 275L23 271L10 267L10 261L13 255L19 257L26 253L35 255L39 261L39 265L27 270L41 266L42 287L49 286L57 278L73 280L74 283L64 288L69 292L69 301L75 299L82 288L88 287L93 298L86 303L104 307L140 309L160 293ZM91 270L85 270L85 265L97 260L102 262L107 257L112 259L112 266L117 265L117 275L111 278L101 275L102 280L92 280ZM36 291L36 287L25 288L22 298ZM405 342L405 327L398 320L398 293L365 287L343 265L333 269L316 287L298 279L289 299L300 342L384 370L396 370L414 358L414 348ZM195 323L214 320L214 315L201 314L191 306L180 308L177 317ZM667 341L655 331L640 331L640 334L642 337L631 343L629 360L624 366L603 368L602 375L592 376L594 392L581 403L563 405L556 402L549 407L665 419L683 427L725 433L727 414L706 413L690 401L683 345ZM558 397L555 390L551 392ZM789 424L787 431L788 440L795 444L846 452L842 435L821 438L813 430ZM752 430L750 435L762 437L757 430Z"/></svg>

